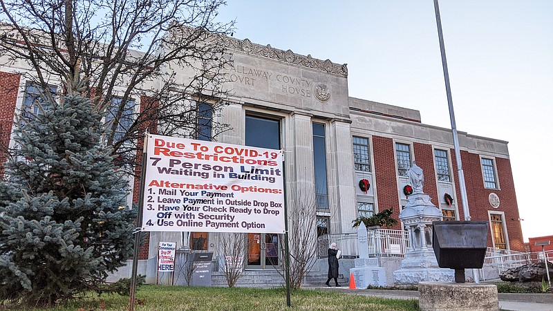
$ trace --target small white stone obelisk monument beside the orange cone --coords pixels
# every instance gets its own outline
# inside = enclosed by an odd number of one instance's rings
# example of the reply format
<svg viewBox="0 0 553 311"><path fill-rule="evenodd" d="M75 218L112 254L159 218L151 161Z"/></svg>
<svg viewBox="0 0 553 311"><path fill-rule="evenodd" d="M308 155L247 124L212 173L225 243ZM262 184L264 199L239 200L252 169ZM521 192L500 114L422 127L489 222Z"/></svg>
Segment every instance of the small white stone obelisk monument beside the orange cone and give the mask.
<svg viewBox="0 0 553 311"><path fill-rule="evenodd" d="M357 227L357 246L359 258L355 259L355 267L350 269L357 288L368 288L368 285L386 286L386 270L379 267L378 258L368 258L367 227L363 222Z"/></svg>

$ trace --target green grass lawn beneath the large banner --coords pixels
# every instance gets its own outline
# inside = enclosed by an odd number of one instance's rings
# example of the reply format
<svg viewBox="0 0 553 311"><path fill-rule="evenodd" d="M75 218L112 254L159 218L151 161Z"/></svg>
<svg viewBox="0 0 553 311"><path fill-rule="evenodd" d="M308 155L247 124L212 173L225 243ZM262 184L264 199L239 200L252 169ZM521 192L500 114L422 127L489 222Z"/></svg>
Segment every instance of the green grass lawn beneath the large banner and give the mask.
<svg viewBox="0 0 553 311"><path fill-rule="evenodd" d="M418 310L418 301L296 290L290 310ZM47 310L128 310L129 297L102 295L70 301ZM189 288L143 285L136 292L135 310L286 310L283 288ZM44 310L44 309L43 309Z"/></svg>

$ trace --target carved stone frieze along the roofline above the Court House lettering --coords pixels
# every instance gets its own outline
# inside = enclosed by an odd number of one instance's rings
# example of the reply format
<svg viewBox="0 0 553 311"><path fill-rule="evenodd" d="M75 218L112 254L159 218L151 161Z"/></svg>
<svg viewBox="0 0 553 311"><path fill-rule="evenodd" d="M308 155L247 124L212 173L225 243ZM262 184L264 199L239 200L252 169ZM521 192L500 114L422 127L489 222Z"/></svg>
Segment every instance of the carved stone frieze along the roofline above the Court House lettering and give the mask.
<svg viewBox="0 0 553 311"><path fill-rule="evenodd" d="M292 52L292 50L279 50L277 48L273 48L270 44L267 46L261 46L259 44L252 43L250 39L238 40L231 37L222 37L222 39L226 48L231 48L247 55L267 57L269 59L278 60L288 64L320 70L324 73L330 73L332 75L340 75L342 77L348 76L347 64L334 64L330 62L330 59L322 61L311 57L311 55L303 56L296 54Z"/></svg>

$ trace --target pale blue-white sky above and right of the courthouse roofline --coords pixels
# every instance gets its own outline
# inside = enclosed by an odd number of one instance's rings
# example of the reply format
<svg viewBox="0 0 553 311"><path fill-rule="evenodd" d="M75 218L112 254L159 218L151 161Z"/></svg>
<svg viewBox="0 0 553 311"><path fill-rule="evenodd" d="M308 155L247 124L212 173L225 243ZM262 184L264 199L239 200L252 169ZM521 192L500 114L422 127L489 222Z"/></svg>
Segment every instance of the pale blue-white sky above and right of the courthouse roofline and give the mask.
<svg viewBox="0 0 553 311"><path fill-rule="evenodd" d="M433 0L228 0L219 12L237 39L348 64L351 97L451 128ZM440 14L458 131L509 142L525 241L553 235L553 1L442 0Z"/></svg>

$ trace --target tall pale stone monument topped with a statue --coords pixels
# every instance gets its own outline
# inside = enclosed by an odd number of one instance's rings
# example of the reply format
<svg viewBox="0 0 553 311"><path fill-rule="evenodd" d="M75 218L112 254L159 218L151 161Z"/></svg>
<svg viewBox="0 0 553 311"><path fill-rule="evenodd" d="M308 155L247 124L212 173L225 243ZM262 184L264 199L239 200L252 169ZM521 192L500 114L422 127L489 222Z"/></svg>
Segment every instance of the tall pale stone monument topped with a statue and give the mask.
<svg viewBox="0 0 553 311"><path fill-rule="evenodd" d="M401 263L402 268L393 272L395 284L452 282L455 279L453 270L438 267L432 247L432 222L442 220L442 212L432 204L430 196L422 191L422 169L413 164L407 176L413 194L407 196L407 205L400 213L400 220L409 231L409 247Z"/></svg>

